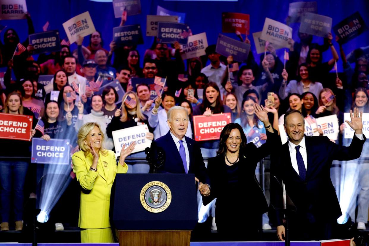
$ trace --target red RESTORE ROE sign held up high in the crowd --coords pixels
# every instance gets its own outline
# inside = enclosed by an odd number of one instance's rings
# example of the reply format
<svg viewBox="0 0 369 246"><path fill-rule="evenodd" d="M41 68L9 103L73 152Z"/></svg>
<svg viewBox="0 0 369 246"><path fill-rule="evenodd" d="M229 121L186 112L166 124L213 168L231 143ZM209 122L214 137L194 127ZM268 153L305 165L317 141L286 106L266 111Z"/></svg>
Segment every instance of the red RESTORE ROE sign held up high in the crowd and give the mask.
<svg viewBox="0 0 369 246"><path fill-rule="evenodd" d="M222 14L222 32L236 32L241 34L249 34L250 30L250 15L242 13Z"/></svg>

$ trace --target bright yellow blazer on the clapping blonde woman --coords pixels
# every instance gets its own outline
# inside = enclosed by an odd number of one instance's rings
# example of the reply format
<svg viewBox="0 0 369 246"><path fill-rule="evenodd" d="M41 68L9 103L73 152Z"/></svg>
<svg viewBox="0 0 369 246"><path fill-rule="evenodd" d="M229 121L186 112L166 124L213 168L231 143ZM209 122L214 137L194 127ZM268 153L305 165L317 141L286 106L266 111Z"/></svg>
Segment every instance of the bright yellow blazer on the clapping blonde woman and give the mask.
<svg viewBox="0 0 369 246"><path fill-rule="evenodd" d="M73 172L77 176L82 190L79 207L78 226L84 229L109 228L109 205L111 186L117 173L127 173L128 166L122 166L115 160L115 154L107 150L107 156L99 152L97 172L89 170L92 154L87 156L82 150L72 156ZM104 167L106 166L106 167Z"/></svg>

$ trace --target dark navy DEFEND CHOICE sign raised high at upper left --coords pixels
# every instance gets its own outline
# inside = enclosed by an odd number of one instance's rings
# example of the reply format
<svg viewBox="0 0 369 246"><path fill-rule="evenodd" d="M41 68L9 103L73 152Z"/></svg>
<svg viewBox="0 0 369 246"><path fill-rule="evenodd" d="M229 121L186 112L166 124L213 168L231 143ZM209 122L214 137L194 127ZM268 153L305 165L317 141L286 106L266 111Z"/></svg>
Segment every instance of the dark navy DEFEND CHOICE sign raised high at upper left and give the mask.
<svg viewBox="0 0 369 246"><path fill-rule="evenodd" d="M49 53L60 51L59 31L47 31L31 34L28 41L33 47L34 54Z"/></svg>

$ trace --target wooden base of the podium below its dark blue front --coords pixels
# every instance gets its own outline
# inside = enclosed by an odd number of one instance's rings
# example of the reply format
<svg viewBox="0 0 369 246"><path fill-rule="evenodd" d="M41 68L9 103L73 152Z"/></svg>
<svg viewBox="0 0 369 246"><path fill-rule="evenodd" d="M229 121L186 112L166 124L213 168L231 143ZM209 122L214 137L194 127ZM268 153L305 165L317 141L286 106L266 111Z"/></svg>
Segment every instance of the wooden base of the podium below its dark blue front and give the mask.
<svg viewBox="0 0 369 246"><path fill-rule="evenodd" d="M189 246L191 231L118 231L120 246Z"/></svg>

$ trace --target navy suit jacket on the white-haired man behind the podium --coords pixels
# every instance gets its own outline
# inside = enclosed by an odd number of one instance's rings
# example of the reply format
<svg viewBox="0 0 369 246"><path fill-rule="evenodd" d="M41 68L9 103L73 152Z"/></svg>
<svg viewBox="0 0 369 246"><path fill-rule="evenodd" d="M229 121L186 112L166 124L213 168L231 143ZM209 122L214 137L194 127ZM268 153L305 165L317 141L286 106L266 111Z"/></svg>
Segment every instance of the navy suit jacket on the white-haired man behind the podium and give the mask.
<svg viewBox="0 0 369 246"><path fill-rule="evenodd" d="M197 177L202 183L210 185L210 179L205 167L203 156L201 155L200 147L193 139L187 138L186 136L184 136L184 138L186 139L190 156L188 173L194 173L195 177ZM165 162L163 166L159 167L158 173L184 173L182 158L179 155L176 143L173 141L170 132L151 143L151 149L153 150L154 160L156 163L158 163L158 147L161 147L165 152ZM150 170L150 173L152 173L152 170Z"/></svg>

